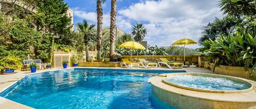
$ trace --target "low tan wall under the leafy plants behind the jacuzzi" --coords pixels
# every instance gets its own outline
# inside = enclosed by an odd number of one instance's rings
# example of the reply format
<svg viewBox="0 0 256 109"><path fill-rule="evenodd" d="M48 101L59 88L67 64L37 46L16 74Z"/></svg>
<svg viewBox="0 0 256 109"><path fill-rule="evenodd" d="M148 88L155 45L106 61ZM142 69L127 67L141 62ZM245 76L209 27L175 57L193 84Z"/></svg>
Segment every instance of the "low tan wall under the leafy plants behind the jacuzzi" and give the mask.
<svg viewBox="0 0 256 109"><path fill-rule="evenodd" d="M210 62L204 62L204 68L213 70L214 63ZM230 75L230 76L236 76L240 78L245 78L249 80L256 80L256 73L252 76L252 78L249 78L249 73L251 72L252 68L249 68L249 71L246 72L243 67L236 67L236 66L223 66L219 65L215 68L215 73L222 74L222 75Z"/></svg>

